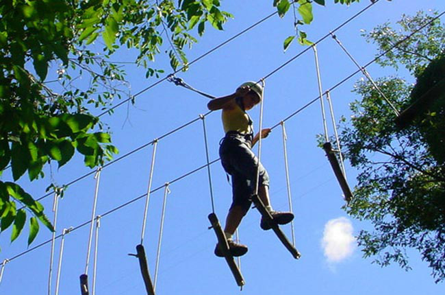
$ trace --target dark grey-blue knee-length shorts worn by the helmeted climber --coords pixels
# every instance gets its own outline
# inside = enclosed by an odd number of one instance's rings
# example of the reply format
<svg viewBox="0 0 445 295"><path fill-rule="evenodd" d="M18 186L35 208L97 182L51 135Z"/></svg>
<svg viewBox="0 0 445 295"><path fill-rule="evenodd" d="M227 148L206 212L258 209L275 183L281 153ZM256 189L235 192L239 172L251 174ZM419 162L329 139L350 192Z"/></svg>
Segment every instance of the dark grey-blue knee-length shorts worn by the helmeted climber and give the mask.
<svg viewBox="0 0 445 295"><path fill-rule="evenodd" d="M236 132L227 132L220 143L219 154L225 172L232 178L233 202L245 212L251 207L251 196L255 193L257 169L259 185L269 185L269 176L257 156L251 150L251 139Z"/></svg>

